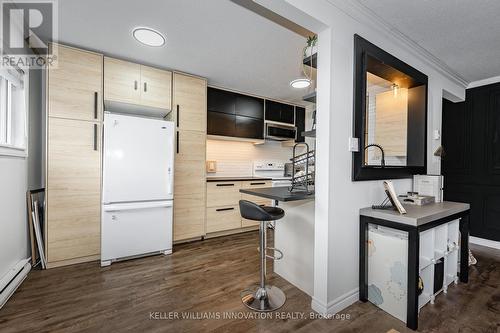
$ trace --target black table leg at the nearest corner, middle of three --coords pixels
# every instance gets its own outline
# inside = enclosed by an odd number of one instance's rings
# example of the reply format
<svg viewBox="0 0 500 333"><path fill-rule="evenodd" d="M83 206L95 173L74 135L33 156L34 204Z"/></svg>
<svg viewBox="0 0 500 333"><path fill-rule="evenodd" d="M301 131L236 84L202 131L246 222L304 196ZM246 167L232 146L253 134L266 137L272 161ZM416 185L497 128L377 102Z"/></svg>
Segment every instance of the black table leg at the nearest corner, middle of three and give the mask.
<svg viewBox="0 0 500 333"><path fill-rule="evenodd" d="M419 232L415 228L408 231L408 292L406 327L418 328L418 276L419 276Z"/></svg>

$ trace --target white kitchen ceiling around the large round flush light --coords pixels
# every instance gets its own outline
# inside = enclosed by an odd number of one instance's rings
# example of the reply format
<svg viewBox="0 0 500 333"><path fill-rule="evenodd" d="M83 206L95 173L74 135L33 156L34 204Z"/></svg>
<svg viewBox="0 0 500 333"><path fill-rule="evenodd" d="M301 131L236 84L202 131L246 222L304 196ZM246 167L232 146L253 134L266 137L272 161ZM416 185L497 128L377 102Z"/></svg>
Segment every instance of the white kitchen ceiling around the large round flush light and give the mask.
<svg viewBox="0 0 500 333"><path fill-rule="evenodd" d="M208 78L209 84L298 102L305 38L230 0L62 0L59 41ZM136 26L166 35L165 47L139 44Z"/></svg>

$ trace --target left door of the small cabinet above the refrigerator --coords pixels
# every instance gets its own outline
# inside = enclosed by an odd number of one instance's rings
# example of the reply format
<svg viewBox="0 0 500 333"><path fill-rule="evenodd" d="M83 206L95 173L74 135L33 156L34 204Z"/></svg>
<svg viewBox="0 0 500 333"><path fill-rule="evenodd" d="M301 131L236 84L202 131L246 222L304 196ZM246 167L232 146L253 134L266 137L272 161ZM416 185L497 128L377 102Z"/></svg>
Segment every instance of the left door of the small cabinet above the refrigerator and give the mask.
<svg viewBox="0 0 500 333"><path fill-rule="evenodd" d="M104 57L104 99L141 103L141 65Z"/></svg>

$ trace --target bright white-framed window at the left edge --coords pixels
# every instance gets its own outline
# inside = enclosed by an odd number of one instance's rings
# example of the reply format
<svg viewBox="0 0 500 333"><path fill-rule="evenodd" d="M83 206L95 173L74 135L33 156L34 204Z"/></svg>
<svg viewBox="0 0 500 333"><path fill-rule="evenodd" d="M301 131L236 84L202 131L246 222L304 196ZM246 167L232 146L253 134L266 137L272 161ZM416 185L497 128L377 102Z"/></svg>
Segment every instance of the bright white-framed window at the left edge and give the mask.
<svg viewBox="0 0 500 333"><path fill-rule="evenodd" d="M22 70L0 69L0 155L26 155L26 85Z"/></svg>

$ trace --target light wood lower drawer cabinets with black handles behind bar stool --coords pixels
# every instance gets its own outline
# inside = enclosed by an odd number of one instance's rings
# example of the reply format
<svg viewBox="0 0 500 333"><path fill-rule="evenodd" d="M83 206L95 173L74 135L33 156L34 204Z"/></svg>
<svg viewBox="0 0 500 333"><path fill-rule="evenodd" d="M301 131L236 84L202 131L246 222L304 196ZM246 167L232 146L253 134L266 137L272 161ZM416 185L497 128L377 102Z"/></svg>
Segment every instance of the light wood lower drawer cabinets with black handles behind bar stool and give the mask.
<svg viewBox="0 0 500 333"><path fill-rule="evenodd" d="M207 183L207 234L234 231L234 233L248 230L249 227L259 225L258 221L251 221L241 217L239 210L240 199L271 205L271 200L240 193L242 188L271 187L271 181L218 181Z"/></svg>

